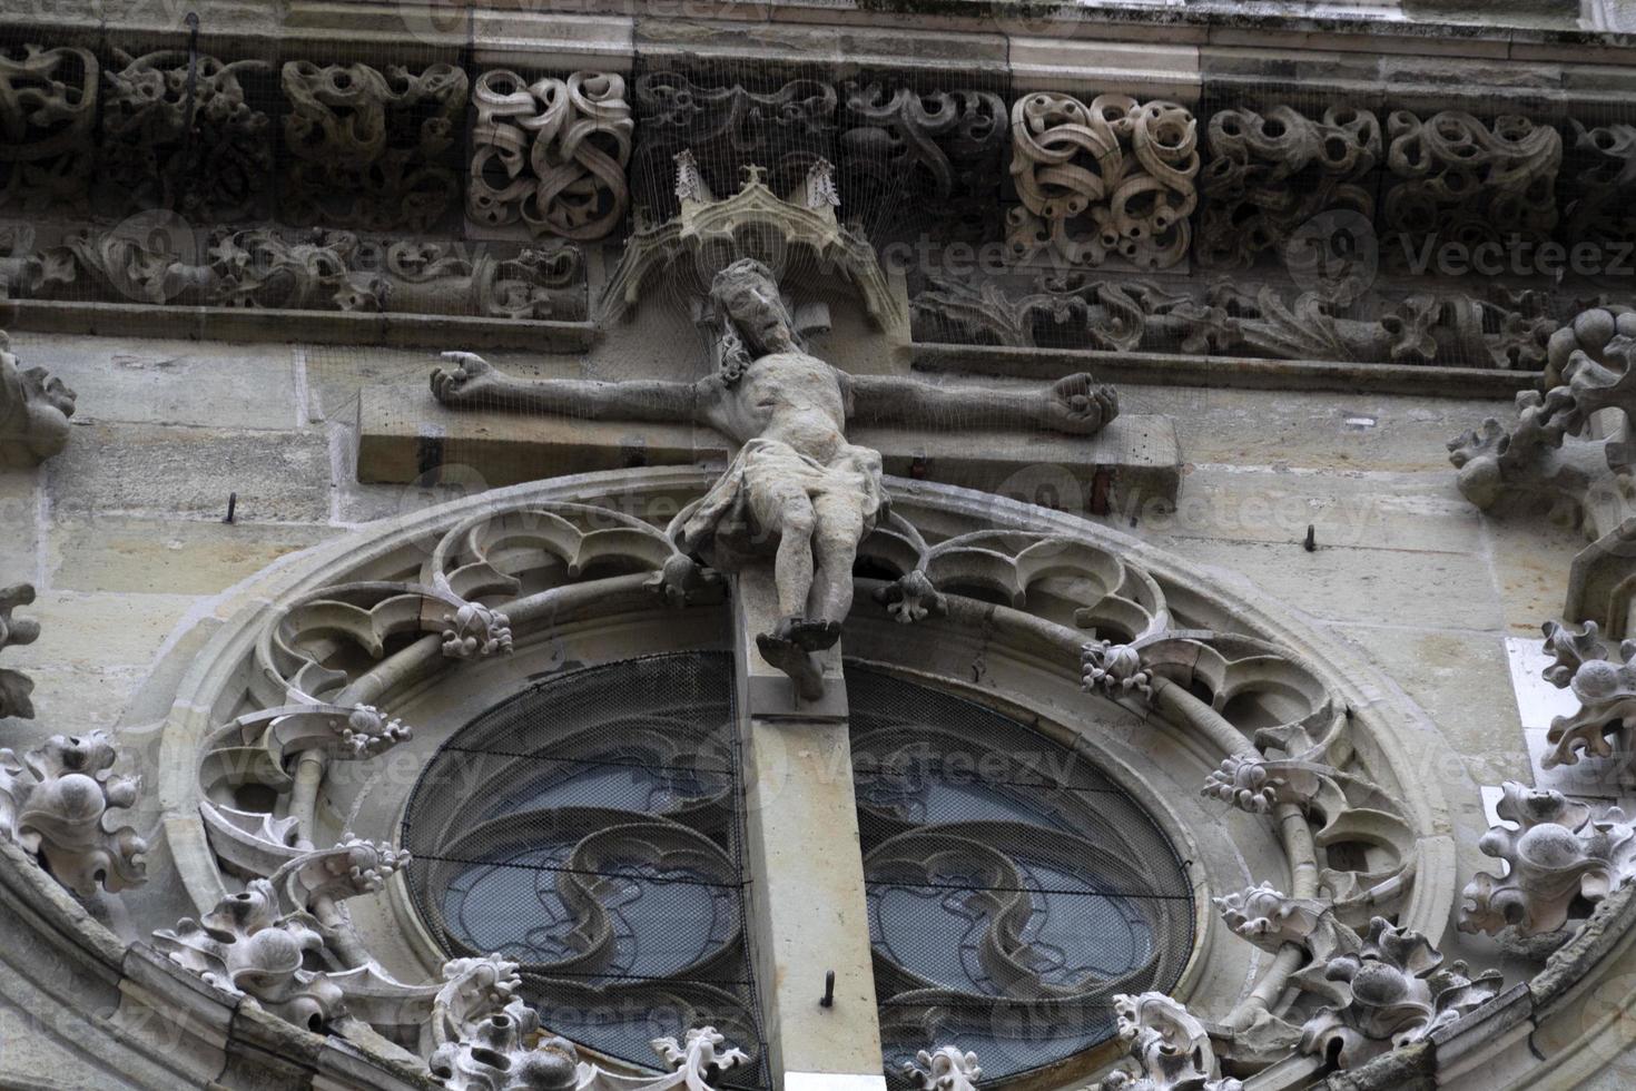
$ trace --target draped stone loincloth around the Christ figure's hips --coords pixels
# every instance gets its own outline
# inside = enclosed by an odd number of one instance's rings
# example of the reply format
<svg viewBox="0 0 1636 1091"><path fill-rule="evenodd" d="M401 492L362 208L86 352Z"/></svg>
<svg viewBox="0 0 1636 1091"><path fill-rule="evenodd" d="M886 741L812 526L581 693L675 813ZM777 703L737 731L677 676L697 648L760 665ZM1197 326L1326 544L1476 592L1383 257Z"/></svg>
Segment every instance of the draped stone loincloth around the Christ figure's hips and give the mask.
<svg viewBox="0 0 1636 1091"><path fill-rule="evenodd" d="M797 484L815 502L821 497L854 502L864 517L865 537L887 507L879 451L844 443L833 460L821 463L784 440L754 438L739 448L733 465L682 523L682 550L728 572L744 558L775 550L777 528L756 525L751 497L782 483Z"/></svg>

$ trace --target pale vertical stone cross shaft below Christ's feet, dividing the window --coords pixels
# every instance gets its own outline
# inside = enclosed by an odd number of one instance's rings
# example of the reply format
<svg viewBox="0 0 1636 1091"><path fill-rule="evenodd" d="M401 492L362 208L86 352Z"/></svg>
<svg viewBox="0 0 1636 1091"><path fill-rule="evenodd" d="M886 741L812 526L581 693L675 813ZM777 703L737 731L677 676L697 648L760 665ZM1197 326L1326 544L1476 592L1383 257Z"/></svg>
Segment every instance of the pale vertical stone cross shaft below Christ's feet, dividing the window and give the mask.
<svg viewBox="0 0 1636 1091"><path fill-rule="evenodd" d="M805 703L756 649L777 620L771 571L735 577L733 615L749 945L774 1088L885 1091L841 649L820 654L825 697Z"/></svg>

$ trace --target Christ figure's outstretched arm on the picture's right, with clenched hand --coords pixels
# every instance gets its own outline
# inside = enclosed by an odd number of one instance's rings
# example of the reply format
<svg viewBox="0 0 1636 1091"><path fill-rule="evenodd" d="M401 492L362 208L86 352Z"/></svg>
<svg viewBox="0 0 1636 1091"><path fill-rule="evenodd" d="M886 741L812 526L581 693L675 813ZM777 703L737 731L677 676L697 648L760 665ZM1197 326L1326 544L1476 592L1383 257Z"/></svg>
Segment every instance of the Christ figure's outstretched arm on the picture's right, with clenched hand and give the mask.
<svg viewBox="0 0 1636 1091"><path fill-rule="evenodd" d="M1037 391L936 386L880 375L849 375L843 381L851 401L849 415L859 424L947 425L964 419L1094 435L1119 415L1114 388L1083 371Z"/></svg>

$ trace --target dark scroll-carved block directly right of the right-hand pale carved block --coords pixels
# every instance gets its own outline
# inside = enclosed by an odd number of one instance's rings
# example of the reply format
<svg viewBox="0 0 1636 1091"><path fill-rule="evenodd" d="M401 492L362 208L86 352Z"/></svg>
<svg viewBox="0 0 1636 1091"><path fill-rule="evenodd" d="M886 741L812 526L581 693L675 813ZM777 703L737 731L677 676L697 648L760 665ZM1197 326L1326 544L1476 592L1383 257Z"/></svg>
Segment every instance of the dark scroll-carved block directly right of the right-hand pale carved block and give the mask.
<svg viewBox="0 0 1636 1091"><path fill-rule="evenodd" d="M1276 255L1320 213L1374 219L1366 180L1381 162L1381 123L1369 110L1330 106L1320 119L1288 105L1217 110L1204 144L1194 254L1206 268Z"/></svg>

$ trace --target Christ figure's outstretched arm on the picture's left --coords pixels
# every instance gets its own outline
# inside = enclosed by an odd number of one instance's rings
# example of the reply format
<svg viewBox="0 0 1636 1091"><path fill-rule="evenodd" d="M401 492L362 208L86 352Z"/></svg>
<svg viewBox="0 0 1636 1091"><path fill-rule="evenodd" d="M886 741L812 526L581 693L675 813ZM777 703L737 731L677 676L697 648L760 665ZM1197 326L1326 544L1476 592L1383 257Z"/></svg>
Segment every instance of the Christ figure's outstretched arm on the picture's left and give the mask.
<svg viewBox="0 0 1636 1091"><path fill-rule="evenodd" d="M455 409L543 412L591 420L664 420L708 424L720 383L627 379L519 379L470 352L445 352L452 368L432 373L432 394Z"/></svg>

